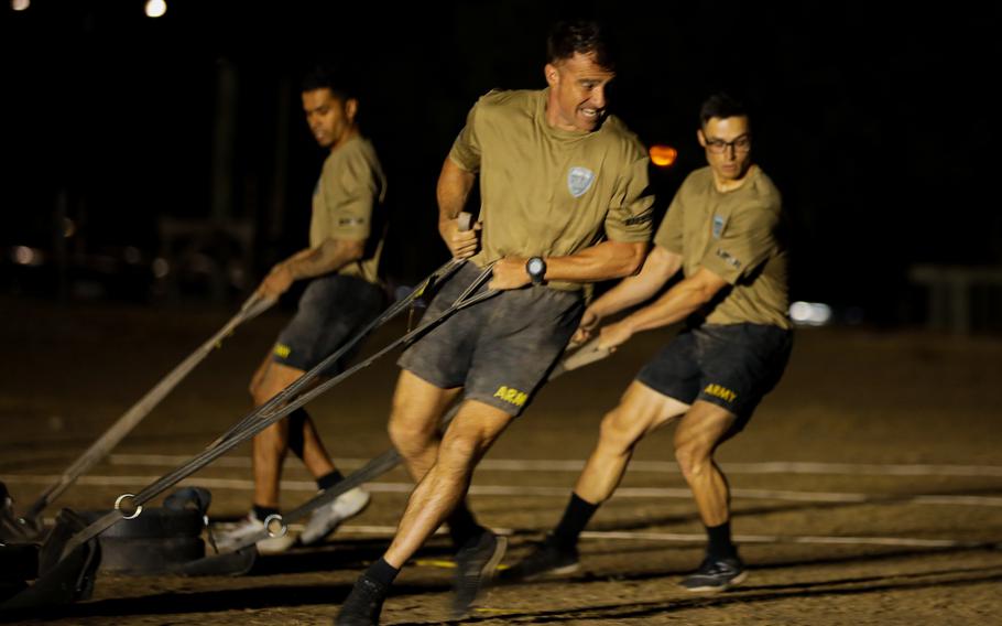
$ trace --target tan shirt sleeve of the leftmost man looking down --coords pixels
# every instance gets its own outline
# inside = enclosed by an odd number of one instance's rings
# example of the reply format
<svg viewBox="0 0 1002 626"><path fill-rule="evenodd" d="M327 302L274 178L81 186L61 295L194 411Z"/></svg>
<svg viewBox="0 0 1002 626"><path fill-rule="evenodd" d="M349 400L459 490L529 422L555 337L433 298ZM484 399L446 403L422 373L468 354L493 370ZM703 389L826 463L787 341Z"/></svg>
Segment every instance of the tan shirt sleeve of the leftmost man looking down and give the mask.
<svg viewBox="0 0 1002 626"><path fill-rule="evenodd" d="M372 229L372 211L380 195L380 184L372 166L361 152L346 154L325 169L324 197L330 215L329 237L364 240Z"/></svg>

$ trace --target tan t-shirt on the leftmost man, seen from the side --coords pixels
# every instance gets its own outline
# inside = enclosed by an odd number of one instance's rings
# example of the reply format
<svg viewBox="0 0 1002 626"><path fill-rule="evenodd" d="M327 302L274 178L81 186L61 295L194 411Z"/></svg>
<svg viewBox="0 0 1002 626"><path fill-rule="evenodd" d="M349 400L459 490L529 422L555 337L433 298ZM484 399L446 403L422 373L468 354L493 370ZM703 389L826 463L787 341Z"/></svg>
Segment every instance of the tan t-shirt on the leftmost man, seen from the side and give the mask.
<svg viewBox="0 0 1002 626"><path fill-rule="evenodd" d="M324 161L313 193L309 247L327 238L366 241L366 252L338 270L379 283L379 257L383 247L380 205L386 196L386 176L372 143L362 137L349 138L331 150Z"/></svg>

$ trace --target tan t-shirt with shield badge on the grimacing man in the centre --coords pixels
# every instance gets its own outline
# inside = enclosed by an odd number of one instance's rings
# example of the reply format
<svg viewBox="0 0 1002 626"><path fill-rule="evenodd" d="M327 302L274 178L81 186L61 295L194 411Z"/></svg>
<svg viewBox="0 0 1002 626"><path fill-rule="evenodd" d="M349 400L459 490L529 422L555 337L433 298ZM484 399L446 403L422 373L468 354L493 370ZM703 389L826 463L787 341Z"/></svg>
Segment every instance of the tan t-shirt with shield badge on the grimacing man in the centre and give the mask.
<svg viewBox="0 0 1002 626"><path fill-rule="evenodd" d="M592 132L546 122L548 89L491 91L467 117L449 158L480 175L483 267L507 256L563 257L605 238L651 238L647 153L616 117ZM578 289L551 282L556 289Z"/></svg>

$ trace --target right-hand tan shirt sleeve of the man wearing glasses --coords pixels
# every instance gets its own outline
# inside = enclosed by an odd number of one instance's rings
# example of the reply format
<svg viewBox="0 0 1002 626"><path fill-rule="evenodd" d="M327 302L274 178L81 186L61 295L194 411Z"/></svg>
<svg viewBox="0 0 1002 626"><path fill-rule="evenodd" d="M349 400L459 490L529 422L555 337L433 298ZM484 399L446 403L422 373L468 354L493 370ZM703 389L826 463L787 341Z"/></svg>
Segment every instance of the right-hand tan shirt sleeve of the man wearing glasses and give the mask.
<svg viewBox="0 0 1002 626"><path fill-rule="evenodd" d="M734 284L751 273L777 247L780 213L755 203L728 220L720 238L712 241L701 267Z"/></svg>

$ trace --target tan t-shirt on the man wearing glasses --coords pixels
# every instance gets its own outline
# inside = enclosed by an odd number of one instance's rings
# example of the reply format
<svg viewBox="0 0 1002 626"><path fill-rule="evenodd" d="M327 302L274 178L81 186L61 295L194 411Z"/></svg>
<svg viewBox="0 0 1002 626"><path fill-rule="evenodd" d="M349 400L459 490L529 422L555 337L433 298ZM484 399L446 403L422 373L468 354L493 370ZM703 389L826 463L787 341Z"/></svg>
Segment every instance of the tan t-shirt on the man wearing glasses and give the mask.
<svg viewBox="0 0 1002 626"><path fill-rule="evenodd" d="M675 194L654 242L682 255L685 276L706 268L732 285L715 300L707 323L791 327L781 207L778 190L758 166L726 193L703 168Z"/></svg>

